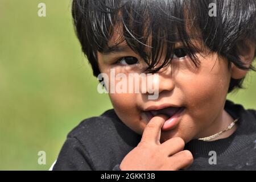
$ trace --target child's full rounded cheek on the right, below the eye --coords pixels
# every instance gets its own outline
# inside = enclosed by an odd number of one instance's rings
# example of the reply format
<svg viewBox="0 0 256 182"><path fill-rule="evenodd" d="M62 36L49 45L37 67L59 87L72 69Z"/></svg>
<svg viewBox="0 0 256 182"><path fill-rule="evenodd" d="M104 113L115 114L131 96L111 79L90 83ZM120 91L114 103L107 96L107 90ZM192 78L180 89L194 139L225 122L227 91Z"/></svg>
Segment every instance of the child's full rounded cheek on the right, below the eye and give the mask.
<svg viewBox="0 0 256 182"><path fill-rule="evenodd" d="M220 111L226 99L230 79L225 64L216 62L213 67L213 60L204 61L208 64L203 64L198 72L180 77L180 85L183 85L181 90L190 114L200 119L213 117Z"/></svg>

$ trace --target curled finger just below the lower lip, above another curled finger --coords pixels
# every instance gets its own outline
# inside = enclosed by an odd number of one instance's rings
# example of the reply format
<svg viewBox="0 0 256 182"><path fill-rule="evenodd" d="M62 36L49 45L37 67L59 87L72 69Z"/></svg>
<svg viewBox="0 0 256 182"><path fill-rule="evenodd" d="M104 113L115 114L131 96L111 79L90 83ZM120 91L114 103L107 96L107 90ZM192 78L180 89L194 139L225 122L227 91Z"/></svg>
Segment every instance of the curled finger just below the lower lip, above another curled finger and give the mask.
<svg viewBox="0 0 256 182"><path fill-rule="evenodd" d="M174 138L168 139L166 140L166 142L160 145L160 147L162 148L161 150L166 155L174 155L177 152L182 151L184 146L185 146L185 142L180 137L174 137Z"/></svg>

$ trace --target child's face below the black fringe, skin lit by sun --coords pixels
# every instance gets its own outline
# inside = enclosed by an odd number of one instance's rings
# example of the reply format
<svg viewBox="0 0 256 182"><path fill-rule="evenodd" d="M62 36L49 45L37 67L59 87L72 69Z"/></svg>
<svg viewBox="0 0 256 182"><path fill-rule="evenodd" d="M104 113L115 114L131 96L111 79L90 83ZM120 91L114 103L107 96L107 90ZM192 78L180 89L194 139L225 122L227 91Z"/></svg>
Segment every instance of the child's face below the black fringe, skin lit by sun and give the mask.
<svg viewBox="0 0 256 182"><path fill-rule="evenodd" d="M114 35L109 44L117 40ZM125 46L125 43L120 44ZM179 44L175 45L179 46ZM174 58L172 66L163 68L159 74L159 97L156 100L148 100L146 93L109 93L115 112L118 117L138 134L143 133L149 119L145 110L152 106L176 105L185 107L177 125L168 131L162 131L160 141L164 142L172 137L181 137L188 142L191 139L208 137L225 129L226 121L230 121L230 115L224 110L226 94L229 88L231 73L228 69L228 61L218 59L217 53L211 53L204 57L196 53L200 60L199 68L196 68L189 56L180 59ZM135 57L143 64L141 57L130 48L122 52L102 54L98 52L98 65L101 73L106 73L110 78L110 69L115 69L115 74L140 73L139 64L113 64L122 57ZM118 80L115 80L117 85Z"/></svg>

